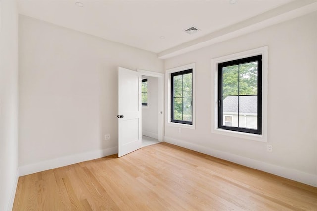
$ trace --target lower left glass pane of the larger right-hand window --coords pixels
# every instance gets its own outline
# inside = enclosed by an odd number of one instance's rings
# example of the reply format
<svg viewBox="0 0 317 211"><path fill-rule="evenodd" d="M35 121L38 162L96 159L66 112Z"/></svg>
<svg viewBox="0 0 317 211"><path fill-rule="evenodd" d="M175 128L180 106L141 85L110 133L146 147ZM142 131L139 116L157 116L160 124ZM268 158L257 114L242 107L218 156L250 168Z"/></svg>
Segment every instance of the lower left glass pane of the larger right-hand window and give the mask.
<svg viewBox="0 0 317 211"><path fill-rule="evenodd" d="M222 111L222 125L238 127L238 96L223 97ZM226 115L232 116L232 123L227 124Z"/></svg>

